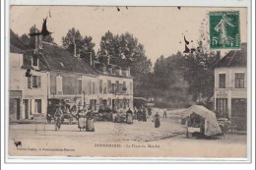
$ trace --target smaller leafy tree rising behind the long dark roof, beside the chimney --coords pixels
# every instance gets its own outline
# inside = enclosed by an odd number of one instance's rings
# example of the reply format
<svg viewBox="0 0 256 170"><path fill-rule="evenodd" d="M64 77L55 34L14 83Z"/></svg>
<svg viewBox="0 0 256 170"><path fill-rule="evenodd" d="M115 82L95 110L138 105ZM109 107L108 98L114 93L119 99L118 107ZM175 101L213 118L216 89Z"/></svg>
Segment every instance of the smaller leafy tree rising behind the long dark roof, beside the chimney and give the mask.
<svg viewBox="0 0 256 170"><path fill-rule="evenodd" d="M90 56L96 57L95 43L93 42L92 36L83 37L80 31L76 28L71 28L68 30L65 37L62 37L62 46L67 48L67 50L74 55L74 48L76 45L76 54L80 55L88 61Z"/></svg>

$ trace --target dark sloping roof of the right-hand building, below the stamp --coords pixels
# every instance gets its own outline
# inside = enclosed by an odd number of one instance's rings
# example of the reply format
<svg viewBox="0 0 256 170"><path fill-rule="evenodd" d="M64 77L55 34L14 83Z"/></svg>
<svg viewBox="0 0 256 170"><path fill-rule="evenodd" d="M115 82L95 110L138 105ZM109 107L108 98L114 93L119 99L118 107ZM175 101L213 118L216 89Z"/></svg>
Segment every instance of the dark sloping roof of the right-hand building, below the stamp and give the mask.
<svg viewBox="0 0 256 170"><path fill-rule="evenodd" d="M220 67L246 67L247 65L247 43L241 44L240 50L229 51L215 66Z"/></svg>

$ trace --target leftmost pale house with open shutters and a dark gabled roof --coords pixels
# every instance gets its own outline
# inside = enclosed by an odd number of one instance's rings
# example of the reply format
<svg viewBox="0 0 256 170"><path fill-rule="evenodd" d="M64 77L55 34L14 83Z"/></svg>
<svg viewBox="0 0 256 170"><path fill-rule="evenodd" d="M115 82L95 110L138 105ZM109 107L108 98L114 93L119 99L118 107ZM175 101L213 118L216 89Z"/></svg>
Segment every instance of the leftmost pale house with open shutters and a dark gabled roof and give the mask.
<svg viewBox="0 0 256 170"><path fill-rule="evenodd" d="M47 80L48 73L39 62L40 59L32 57L33 54L31 46L25 45L10 30L11 120L32 119L36 114L46 114L47 82L42 80Z"/></svg>

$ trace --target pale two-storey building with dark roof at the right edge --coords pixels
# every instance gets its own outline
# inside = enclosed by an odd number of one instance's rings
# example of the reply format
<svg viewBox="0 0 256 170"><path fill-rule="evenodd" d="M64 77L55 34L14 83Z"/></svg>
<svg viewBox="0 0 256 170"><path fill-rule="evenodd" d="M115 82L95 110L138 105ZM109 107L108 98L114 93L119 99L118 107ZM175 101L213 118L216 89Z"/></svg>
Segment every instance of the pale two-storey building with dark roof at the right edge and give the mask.
<svg viewBox="0 0 256 170"><path fill-rule="evenodd" d="M215 110L246 128L247 120L247 45L230 51L215 66Z"/></svg>

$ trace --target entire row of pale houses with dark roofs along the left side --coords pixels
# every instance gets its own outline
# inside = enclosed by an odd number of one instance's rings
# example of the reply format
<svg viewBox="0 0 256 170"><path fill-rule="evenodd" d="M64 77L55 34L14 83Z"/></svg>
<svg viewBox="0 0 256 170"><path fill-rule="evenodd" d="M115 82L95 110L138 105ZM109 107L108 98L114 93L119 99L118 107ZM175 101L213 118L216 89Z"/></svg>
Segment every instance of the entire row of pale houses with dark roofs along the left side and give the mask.
<svg viewBox="0 0 256 170"><path fill-rule="evenodd" d="M35 27L31 32L38 31ZM51 98L98 109L133 108L130 70L86 60L32 36L25 45L11 30L10 119L45 116ZM15 107L13 107L15 105Z"/></svg>

